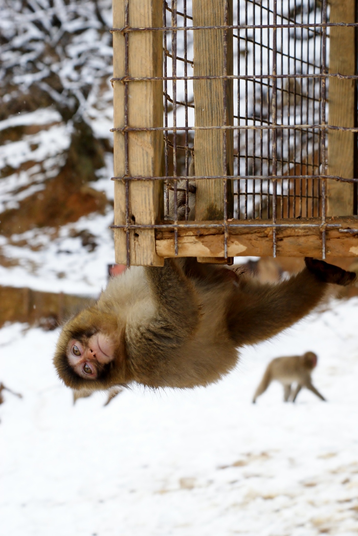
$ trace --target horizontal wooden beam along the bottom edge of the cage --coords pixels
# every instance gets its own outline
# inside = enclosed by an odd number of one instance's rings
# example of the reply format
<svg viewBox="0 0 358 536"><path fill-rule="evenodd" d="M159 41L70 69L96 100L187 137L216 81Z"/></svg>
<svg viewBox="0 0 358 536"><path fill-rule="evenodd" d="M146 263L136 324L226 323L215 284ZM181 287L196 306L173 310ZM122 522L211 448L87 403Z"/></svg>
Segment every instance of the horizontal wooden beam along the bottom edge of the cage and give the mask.
<svg viewBox="0 0 358 536"><path fill-rule="evenodd" d="M189 223L189 222L188 222ZM223 231L220 228L204 228L209 221L196 222L203 228L178 229L179 257L222 257ZM219 223L219 222L216 222ZM242 224L244 227L230 228L228 238L228 255L235 256L272 256L272 227L262 225L272 224L272 220L233 220L232 224ZM297 224L296 219L277 220L280 224ZM327 224L337 224L340 227L326 228L326 257L358 257L358 218L332 218ZM304 227L304 224L316 224L317 227ZM300 219L300 227L277 228L277 256L282 257L322 257L322 233L319 225L320 218ZM190 224L189 224L190 225ZM341 230L339 230L341 229ZM355 229L356 233L342 232L345 229ZM158 255L174 257L174 231L157 230L156 249Z"/></svg>

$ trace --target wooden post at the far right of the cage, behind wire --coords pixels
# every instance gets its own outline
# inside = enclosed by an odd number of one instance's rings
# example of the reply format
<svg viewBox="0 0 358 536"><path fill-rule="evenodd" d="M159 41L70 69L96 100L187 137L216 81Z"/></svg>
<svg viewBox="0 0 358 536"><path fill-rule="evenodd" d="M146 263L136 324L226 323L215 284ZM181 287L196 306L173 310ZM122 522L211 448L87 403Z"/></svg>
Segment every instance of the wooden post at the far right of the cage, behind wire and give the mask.
<svg viewBox="0 0 358 536"><path fill-rule="evenodd" d="M355 0L331 0L331 23L354 23ZM355 28L330 28L329 71L341 75L355 74ZM355 80L336 77L329 82L329 124L354 125ZM328 174L343 178L354 177L353 132L328 131ZM353 184L327 180L327 215L353 214Z"/></svg>

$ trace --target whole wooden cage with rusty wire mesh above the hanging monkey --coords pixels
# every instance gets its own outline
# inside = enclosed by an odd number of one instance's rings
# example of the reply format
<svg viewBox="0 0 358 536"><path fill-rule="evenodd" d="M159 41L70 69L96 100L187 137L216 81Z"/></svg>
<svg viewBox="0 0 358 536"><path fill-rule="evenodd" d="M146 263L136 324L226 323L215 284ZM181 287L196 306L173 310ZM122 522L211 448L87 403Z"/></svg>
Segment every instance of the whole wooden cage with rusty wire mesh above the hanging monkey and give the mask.
<svg viewBox="0 0 358 536"><path fill-rule="evenodd" d="M343 4L115 0L118 262L358 255Z"/></svg>

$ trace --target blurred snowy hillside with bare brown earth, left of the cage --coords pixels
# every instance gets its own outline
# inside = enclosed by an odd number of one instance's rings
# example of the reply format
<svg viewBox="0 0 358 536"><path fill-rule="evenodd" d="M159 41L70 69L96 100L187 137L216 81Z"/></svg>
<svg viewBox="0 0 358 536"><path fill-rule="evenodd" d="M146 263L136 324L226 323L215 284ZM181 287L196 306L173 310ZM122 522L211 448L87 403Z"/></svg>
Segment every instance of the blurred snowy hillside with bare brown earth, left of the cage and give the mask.
<svg viewBox="0 0 358 536"><path fill-rule="evenodd" d="M0 8L0 233L108 213L111 0L0 0Z"/></svg>

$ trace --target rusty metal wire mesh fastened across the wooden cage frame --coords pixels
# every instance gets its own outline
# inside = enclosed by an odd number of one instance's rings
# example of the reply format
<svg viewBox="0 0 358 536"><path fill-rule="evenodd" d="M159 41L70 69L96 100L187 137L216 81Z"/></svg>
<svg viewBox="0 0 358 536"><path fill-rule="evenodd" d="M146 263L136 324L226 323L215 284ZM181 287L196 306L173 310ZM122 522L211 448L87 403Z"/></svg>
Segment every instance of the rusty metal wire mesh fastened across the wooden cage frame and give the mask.
<svg viewBox="0 0 358 536"><path fill-rule="evenodd" d="M223 130L224 218L222 224L208 227L224 229L224 253L230 228L243 223L236 220L271 220L272 253L276 256L276 229L312 226L322 230L322 255L325 257L326 180L357 182L326 173L327 131L358 132L327 124L327 84L332 77L357 80L358 74L328 72L329 32L333 26L358 27L358 23L330 23L326 0L244 0L234 1L233 24L193 26L189 0L163 1L163 26L131 27L130 0L125 0L125 26L112 28L125 37L125 74L112 83L125 86L125 121L120 131L125 139L125 175L112 177L126 184L127 262L130 258L130 229L174 229L175 252L178 254L178 228L200 228L201 224L178 221L178 192L186 193L185 220L189 218L189 164L194 151L197 130ZM194 75L193 35L201 29L233 30L234 71L227 70L228 32L224 32L224 74ZM133 32L163 33L163 76L133 77L128 70L128 36ZM230 43L231 45L231 43ZM193 81L220 79L224 85L223 122L215 126L195 126ZM128 85L143 80L163 81L163 126L128 124ZM228 107L226 84L233 84L234 123L226 123ZM128 169L128 135L137 131L163 131L163 176L131 176ZM234 134L234 170L227 172L228 132ZM208 178L195 176L195 180ZM169 217L169 192L172 192L173 222L157 225L135 225L130 217L129 183L138 180L164 181L164 214ZM184 185L178 187L178 181ZM228 181L234 181L234 222L229 218ZM297 224L277 220L319 218L320 224ZM248 224L245 223L245 226ZM268 224L262 224L268 225Z"/></svg>

